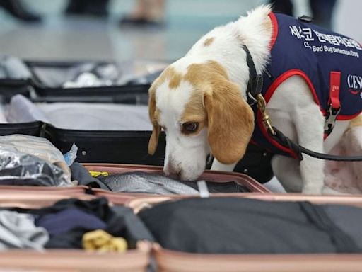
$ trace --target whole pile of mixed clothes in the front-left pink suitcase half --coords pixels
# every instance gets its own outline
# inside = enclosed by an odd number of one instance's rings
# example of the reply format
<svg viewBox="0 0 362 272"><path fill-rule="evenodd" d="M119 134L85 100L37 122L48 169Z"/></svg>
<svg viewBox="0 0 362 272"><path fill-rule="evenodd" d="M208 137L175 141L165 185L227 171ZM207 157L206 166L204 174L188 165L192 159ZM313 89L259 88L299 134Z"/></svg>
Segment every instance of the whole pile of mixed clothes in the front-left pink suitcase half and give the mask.
<svg viewBox="0 0 362 272"><path fill-rule="evenodd" d="M38 210L0 211L0 249L134 248L139 239L153 240L132 210L110 207L105 198L60 200Z"/></svg>

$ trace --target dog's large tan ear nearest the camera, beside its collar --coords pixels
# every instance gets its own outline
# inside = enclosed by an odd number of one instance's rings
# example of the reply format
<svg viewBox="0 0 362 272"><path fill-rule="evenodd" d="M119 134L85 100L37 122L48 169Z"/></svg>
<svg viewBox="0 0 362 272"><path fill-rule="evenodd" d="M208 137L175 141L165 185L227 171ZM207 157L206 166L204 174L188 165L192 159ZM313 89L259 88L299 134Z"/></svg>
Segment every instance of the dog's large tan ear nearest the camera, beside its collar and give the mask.
<svg viewBox="0 0 362 272"><path fill-rule="evenodd" d="M208 140L211 152L223 164L238 162L254 130L254 113L236 84L223 80L206 91Z"/></svg>

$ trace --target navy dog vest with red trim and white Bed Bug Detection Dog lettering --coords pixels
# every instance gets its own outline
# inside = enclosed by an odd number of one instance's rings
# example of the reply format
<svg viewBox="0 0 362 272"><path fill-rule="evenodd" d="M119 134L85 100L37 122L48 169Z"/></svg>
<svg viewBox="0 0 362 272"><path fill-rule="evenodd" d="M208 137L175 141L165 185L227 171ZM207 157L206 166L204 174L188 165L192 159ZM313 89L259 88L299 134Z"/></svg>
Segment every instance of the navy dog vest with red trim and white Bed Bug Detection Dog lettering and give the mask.
<svg viewBox="0 0 362 272"><path fill-rule="evenodd" d="M337 120L350 120L359 115L362 111L362 46L356 40L290 16L270 13L269 17L273 36L267 71L271 77L264 73L262 89L267 103L283 81L299 75L310 87L323 115L331 101L341 107ZM296 157L269 137L257 107L253 106L253 110L255 130L251 142L270 152Z"/></svg>

